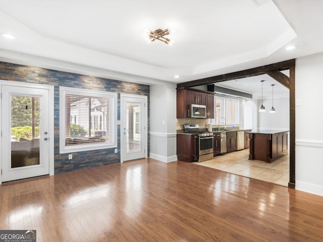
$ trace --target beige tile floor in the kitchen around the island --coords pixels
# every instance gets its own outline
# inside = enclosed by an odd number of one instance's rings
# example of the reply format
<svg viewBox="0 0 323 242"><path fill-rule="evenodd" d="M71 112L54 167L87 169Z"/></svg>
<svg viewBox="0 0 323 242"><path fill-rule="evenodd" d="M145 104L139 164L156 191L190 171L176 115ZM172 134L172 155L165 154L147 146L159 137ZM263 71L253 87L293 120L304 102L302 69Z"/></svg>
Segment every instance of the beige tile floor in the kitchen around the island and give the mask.
<svg viewBox="0 0 323 242"><path fill-rule="evenodd" d="M211 160L194 162L193 164L227 171L259 180L269 181L288 187L289 155L272 163L261 160L248 160L249 149L216 156Z"/></svg>

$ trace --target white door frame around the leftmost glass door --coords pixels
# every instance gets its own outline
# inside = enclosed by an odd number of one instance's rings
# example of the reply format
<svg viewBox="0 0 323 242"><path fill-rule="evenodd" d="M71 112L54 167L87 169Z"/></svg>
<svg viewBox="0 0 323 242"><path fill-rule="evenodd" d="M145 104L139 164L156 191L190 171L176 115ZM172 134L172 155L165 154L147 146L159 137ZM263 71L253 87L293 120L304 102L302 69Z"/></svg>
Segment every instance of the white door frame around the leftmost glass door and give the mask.
<svg viewBox="0 0 323 242"><path fill-rule="evenodd" d="M48 90L48 102L49 102L49 110L48 110L48 120L49 120L49 129L48 129L48 142L49 142L49 175L54 174L54 87L49 85L40 85L33 83L24 83L24 82L13 82L0 80L0 90L2 90L2 86L15 86L15 87L28 87L28 88L38 88L38 89L46 89ZM0 100L0 109L2 108L2 98ZM0 128L2 128L2 110L0 113ZM0 147L2 145L2 138L0 139ZM2 150L1 150L2 153ZM0 155L0 169L2 170L2 154ZM2 184L2 174L0 173L0 184Z"/></svg>

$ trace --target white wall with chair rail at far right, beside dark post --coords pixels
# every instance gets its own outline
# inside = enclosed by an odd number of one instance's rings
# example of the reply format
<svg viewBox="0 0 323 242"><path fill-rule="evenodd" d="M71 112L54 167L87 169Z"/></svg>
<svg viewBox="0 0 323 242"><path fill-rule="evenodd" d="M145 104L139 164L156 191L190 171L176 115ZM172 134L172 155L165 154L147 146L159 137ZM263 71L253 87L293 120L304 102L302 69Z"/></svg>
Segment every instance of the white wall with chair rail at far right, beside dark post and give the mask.
<svg viewBox="0 0 323 242"><path fill-rule="evenodd" d="M296 189L323 196L323 53L296 59Z"/></svg>

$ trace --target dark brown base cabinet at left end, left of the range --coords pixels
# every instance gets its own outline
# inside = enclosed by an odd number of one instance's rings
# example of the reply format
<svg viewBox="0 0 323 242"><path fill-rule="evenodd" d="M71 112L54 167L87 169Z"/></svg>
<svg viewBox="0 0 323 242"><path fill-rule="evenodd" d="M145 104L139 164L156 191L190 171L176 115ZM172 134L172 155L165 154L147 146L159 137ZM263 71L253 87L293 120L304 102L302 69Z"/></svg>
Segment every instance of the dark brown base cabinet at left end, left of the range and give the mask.
<svg viewBox="0 0 323 242"><path fill-rule="evenodd" d="M177 159L186 162L197 161L197 136L177 134Z"/></svg>

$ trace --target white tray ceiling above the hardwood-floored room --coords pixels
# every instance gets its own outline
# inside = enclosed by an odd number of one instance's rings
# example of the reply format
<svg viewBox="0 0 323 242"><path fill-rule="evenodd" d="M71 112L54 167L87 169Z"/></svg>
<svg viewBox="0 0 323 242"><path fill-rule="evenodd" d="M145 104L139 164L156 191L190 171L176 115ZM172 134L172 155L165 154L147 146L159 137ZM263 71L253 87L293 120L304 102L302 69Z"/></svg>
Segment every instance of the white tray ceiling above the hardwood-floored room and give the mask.
<svg viewBox="0 0 323 242"><path fill-rule="evenodd" d="M15 36L0 36L0 61L180 83L322 52L322 9L321 0L0 0L0 33ZM173 46L145 41L145 29L170 27Z"/></svg>

